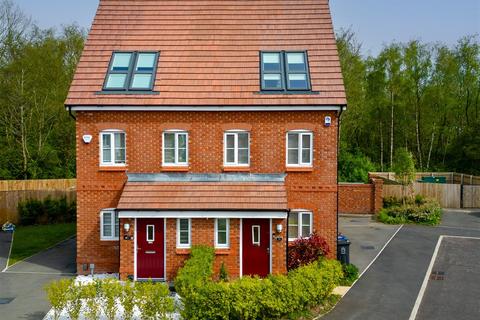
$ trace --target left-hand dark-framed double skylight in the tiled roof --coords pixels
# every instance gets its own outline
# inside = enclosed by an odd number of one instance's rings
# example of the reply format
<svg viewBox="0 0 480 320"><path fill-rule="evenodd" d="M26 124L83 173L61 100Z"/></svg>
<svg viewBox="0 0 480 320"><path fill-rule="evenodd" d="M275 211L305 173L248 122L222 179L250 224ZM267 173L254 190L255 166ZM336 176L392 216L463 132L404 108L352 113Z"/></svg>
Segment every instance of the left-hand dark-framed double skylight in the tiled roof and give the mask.
<svg viewBox="0 0 480 320"><path fill-rule="evenodd" d="M104 91L152 91L158 52L114 52Z"/></svg>

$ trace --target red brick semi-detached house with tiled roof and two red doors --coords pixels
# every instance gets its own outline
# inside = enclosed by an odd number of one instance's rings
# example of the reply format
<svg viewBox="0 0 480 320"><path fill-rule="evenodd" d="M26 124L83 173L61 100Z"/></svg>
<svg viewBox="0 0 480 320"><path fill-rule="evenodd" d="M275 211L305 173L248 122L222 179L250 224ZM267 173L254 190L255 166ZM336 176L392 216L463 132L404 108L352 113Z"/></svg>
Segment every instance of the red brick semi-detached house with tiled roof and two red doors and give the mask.
<svg viewBox="0 0 480 320"><path fill-rule="evenodd" d="M327 0L101 0L76 118L77 268L172 280L197 244L233 277L337 235L346 106Z"/></svg>

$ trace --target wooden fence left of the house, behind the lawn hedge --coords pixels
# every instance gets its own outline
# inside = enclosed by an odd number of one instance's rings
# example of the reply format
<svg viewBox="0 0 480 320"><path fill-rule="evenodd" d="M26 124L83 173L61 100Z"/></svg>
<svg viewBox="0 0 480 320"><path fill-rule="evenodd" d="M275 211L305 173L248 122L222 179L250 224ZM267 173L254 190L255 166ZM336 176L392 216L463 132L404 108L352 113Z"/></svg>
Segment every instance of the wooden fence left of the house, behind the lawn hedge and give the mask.
<svg viewBox="0 0 480 320"><path fill-rule="evenodd" d="M18 204L28 199L43 200L46 197L67 201L76 200L75 179L3 180L0 181L0 224L19 222Z"/></svg>

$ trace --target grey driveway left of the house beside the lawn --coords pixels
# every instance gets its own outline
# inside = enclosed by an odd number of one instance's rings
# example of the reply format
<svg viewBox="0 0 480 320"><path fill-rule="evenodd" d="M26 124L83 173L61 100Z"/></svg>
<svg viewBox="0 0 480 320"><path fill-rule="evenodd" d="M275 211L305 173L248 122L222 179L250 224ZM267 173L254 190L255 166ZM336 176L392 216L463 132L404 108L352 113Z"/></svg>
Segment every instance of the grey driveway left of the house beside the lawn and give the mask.
<svg viewBox="0 0 480 320"><path fill-rule="evenodd" d="M75 256L76 240L72 238L1 272L0 318L43 319L50 309L45 285L73 277Z"/></svg>

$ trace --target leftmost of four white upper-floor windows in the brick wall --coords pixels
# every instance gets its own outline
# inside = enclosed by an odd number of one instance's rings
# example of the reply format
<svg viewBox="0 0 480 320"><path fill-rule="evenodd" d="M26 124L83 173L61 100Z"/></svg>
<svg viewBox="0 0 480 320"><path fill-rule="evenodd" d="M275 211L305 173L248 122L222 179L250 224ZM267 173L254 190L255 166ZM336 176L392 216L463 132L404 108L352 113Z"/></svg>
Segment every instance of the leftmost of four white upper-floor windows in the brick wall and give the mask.
<svg viewBox="0 0 480 320"><path fill-rule="evenodd" d="M100 132L100 165L124 166L126 154L125 132L120 130Z"/></svg>

